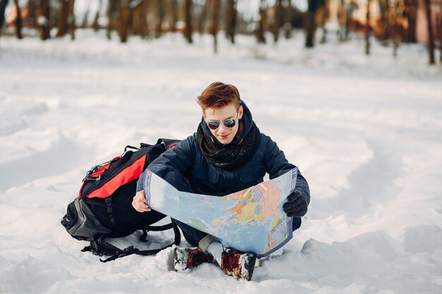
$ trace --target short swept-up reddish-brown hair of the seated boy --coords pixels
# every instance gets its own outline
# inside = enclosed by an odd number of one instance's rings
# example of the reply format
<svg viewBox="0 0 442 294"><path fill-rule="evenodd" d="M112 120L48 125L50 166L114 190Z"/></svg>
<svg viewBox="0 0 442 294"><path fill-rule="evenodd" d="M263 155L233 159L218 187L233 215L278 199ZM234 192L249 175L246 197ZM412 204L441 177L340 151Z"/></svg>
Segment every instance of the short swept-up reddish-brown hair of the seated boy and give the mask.
<svg viewBox="0 0 442 294"><path fill-rule="evenodd" d="M234 85L224 82L213 82L198 96L196 100L203 111L208 108L219 108L234 102L237 109L241 104L239 91Z"/></svg>

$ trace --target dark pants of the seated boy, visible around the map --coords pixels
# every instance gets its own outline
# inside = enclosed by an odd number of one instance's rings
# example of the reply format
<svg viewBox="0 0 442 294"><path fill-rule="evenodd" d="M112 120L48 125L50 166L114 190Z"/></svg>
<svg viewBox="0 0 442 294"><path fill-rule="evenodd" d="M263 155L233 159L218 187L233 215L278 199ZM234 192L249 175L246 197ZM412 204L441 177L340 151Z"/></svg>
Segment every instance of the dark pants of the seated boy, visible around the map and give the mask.
<svg viewBox="0 0 442 294"><path fill-rule="evenodd" d="M167 183L173 185L180 191L193 192L189 182L180 173L171 171L165 175L164 179L167 181ZM173 219L173 221L177 223L179 228L181 228L184 238L186 239L187 243L189 243L192 247L198 247L198 243L200 242L200 240L208 235L208 233L198 231L196 228L192 228L191 226L186 225L186 223L181 223L181 221L178 221L177 219ZM292 231L297 230L300 226L301 218L294 217Z"/></svg>

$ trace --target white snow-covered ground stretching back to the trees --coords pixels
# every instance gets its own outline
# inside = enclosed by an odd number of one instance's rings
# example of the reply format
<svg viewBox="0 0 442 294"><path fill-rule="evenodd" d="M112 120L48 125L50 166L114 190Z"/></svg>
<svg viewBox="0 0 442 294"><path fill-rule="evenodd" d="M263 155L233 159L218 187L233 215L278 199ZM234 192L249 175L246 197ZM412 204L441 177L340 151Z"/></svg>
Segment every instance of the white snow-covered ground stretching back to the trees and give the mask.
<svg viewBox="0 0 442 294"><path fill-rule="evenodd" d="M276 46L220 38L214 55L198 35L77 37L0 38L0 293L441 293L442 70L424 47L306 51L297 33ZM213 264L171 271L170 249L108 263L80 252L59 221L85 171L128 144L191 135L215 80L237 85L309 181L294 239L251 282Z"/></svg>

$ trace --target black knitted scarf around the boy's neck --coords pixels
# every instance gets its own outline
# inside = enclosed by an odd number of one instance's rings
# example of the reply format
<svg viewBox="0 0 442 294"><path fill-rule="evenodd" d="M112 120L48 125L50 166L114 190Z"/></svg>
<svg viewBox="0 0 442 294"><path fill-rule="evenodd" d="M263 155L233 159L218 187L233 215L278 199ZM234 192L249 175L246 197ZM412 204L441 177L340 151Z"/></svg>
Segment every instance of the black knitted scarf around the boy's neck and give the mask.
<svg viewBox="0 0 442 294"><path fill-rule="evenodd" d="M241 132L241 126L239 132ZM232 142L229 145L218 145L212 137L204 133L201 124L198 125L197 130L198 146L203 157L214 166L227 170L237 169L251 159L258 146L260 135L258 127L255 123L252 123L249 133L244 139L237 143Z"/></svg>

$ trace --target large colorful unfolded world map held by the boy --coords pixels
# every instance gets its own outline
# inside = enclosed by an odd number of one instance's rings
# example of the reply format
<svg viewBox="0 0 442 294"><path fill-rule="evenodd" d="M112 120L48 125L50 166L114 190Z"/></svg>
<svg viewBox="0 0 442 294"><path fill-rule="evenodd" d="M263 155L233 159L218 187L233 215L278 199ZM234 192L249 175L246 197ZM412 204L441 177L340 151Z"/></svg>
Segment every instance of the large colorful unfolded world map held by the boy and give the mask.
<svg viewBox="0 0 442 294"><path fill-rule="evenodd" d="M222 244L265 257L292 238L292 218L282 204L296 185L297 168L222 197L181 192L145 173L146 203L157 212L220 238Z"/></svg>

